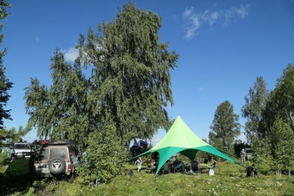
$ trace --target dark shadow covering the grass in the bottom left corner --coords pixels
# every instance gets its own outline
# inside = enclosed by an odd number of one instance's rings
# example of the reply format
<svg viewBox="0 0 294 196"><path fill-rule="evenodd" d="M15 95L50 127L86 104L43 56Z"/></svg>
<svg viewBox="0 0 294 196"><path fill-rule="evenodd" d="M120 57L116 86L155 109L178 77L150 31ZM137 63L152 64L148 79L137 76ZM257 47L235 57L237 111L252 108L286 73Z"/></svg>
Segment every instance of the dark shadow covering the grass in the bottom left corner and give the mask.
<svg viewBox="0 0 294 196"><path fill-rule="evenodd" d="M14 159L5 172L0 172L0 195L15 192L24 195L33 186L34 179L28 168L28 159Z"/></svg>

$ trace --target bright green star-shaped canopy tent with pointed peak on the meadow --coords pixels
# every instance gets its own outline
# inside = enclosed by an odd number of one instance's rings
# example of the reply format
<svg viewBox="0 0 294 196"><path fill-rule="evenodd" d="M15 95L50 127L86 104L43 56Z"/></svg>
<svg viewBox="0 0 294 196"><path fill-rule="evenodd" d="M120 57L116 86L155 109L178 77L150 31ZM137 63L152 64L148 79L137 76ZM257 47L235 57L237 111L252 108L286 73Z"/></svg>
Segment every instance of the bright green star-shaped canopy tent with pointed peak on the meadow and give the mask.
<svg viewBox="0 0 294 196"><path fill-rule="evenodd" d="M186 123L184 123L180 116L175 119L175 122L171 126L171 129L168 130L164 138L159 141L157 145L155 145L150 150L139 154L136 157L133 157L132 159L137 159L137 157L141 157L145 154L150 154L156 151L159 152L159 163L157 171L155 172L155 175L157 175L160 168L162 168L164 163L170 157L172 157L173 154L180 152L180 154L183 154L186 157L189 157L189 159L193 160L195 159L196 154L199 150L209 152L218 157L241 165L241 163L238 163L234 161L234 159L227 157L227 155L220 152L220 150L217 150L205 141L202 141L202 139L200 139L190 130L190 128L186 125Z"/></svg>

